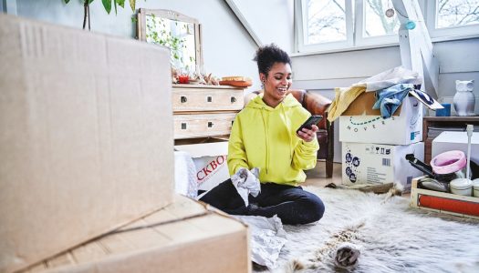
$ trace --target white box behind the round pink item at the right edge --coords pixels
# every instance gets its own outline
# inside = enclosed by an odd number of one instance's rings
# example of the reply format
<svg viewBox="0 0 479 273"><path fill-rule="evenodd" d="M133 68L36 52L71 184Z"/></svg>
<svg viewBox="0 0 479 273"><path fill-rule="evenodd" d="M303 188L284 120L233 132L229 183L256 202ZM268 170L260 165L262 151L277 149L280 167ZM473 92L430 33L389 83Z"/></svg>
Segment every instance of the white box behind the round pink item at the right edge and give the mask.
<svg viewBox="0 0 479 273"><path fill-rule="evenodd" d="M431 158L452 150L463 151L467 157L467 132L445 131L434 138ZM473 136L471 136L471 161L479 164L479 132L473 132Z"/></svg>

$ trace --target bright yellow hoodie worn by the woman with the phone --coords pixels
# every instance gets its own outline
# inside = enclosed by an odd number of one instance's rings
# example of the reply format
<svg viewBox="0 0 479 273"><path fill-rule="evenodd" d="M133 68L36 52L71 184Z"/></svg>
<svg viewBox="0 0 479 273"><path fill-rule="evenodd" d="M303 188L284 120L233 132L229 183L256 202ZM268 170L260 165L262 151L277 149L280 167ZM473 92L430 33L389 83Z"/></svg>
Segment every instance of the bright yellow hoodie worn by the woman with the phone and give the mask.
<svg viewBox="0 0 479 273"><path fill-rule="evenodd" d="M297 186L304 169L316 166L318 139L305 142L296 130L311 116L296 98L287 95L275 108L255 96L234 119L228 144L230 175L240 167L259 167L261 182Z"/></svg>

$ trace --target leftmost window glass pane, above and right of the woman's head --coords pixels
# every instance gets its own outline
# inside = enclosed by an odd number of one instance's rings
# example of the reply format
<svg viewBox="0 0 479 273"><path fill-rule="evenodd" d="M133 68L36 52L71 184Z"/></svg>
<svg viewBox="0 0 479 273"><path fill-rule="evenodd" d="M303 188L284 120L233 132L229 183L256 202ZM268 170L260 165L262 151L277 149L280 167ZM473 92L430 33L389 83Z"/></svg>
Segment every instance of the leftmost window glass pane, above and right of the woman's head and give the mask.
<svg viewBox="0 0 479 273"><path fill-rule="evenodd" d="M345 41L345 0L307 0L307 45Z"/></svg>

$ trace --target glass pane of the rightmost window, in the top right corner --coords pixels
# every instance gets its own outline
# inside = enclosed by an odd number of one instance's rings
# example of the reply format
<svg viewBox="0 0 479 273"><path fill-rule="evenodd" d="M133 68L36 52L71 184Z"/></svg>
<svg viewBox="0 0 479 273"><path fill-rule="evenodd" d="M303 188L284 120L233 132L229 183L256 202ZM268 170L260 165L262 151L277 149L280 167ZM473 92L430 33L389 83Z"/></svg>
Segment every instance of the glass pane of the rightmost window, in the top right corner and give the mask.
<svg viewBox="0 0 479 273"><path fill-rule="evenodd" d="M479 0L437 1L437 28L479 24Z"/></svg>

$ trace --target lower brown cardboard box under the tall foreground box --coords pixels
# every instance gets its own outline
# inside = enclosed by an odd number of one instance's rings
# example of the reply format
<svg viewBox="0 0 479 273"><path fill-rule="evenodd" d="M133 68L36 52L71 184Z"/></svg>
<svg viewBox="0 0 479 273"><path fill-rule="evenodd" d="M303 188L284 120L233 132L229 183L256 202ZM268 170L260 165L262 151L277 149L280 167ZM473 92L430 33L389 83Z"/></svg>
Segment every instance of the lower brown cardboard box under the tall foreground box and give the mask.
<svg viewBox="0 0 479 273"><path fill-rule="evenodd" d="M28 268L47 272L250 272L245 224L177 196L118 232Z"/></svg>

